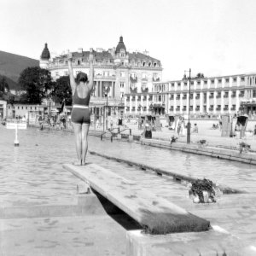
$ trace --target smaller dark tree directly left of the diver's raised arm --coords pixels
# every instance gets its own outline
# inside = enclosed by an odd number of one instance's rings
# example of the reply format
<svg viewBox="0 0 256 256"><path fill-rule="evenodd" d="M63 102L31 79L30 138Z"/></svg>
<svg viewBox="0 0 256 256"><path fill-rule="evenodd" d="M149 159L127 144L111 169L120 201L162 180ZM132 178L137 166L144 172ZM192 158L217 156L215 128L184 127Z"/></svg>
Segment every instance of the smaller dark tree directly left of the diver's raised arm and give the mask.
<svg viewBox="0 0 256 256"><path fill-rule="evenodd" d="M56 80L50 96L54 102L62 103L65 101L66 105L72 105L72 90L69 84L69 76L63 76Z"/></svg>

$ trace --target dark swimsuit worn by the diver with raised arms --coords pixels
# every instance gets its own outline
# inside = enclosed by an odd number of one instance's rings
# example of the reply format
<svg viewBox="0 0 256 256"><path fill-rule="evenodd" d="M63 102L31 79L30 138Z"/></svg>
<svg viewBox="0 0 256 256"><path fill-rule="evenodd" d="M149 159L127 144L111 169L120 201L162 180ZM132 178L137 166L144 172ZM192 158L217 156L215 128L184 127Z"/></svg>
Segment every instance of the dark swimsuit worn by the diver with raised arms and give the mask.
<svg viewBox="0 0 256 256"><path fill-rule="evenodd" d="M73 105L81 105L88 108L73 108L71 113L71 121L77 124L90 124L90 92L85 98L79 98L77 88L73 94Z"/></svg>

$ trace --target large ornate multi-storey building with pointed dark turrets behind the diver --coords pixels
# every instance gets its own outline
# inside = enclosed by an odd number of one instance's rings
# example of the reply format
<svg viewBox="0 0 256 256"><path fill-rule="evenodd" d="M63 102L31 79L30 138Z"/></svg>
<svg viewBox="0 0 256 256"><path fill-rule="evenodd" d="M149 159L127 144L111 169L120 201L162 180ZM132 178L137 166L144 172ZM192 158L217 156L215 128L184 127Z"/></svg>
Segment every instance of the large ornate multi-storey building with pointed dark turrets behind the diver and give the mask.
<svg viewBox="0 0 256 256"><path fill-rule="evenodd" d="M162 78L162 67L159 60L148 55L148 52L128 52L119 38L116 47L108 50L96 49L95 55L95 86L90 101L94 112L101 115L108 96L108 113L123 113L125 109L123 97L131 92L143 93L153 90L154 81ZM90 50L79 49L73 52L73 72L89 74ZM68 75L67 53L50 58L48 45L45 44L40 58L40 67L50 71L53 79Z"/></svg>

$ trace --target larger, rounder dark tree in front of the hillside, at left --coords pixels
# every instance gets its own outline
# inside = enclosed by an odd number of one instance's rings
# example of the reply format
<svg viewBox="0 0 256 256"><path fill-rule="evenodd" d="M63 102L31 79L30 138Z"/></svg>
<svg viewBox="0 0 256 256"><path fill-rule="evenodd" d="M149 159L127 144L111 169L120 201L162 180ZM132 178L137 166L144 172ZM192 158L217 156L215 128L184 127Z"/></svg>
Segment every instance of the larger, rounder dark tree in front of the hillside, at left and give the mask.
<svg viewBox="0 0 256 256"><path fill-rule="evenodd" d="M48 98L53 88L50 72L41 67L27 67L20 73L19 84L22 101L30 104L41 104L44 98Z"/></svg>

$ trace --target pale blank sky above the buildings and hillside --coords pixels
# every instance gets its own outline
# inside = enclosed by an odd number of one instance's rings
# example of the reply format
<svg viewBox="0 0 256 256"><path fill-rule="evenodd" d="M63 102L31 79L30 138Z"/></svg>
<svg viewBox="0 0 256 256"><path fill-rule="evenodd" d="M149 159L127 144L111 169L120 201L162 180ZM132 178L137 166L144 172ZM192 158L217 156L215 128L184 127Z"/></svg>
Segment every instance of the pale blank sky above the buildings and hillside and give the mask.
<svg viewBox="0 0 256 256"><path fill-rule="evenodd" d="M256 72L255 0L0 0L0 50L148 50L163 80ZM1 60L0 60L1 61Z"/></svg>

